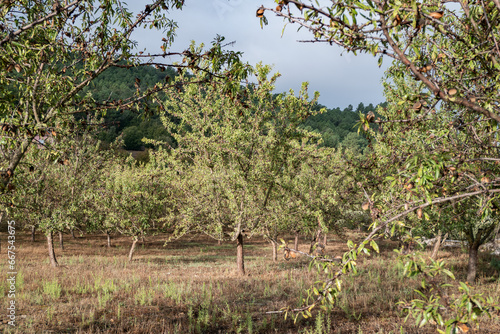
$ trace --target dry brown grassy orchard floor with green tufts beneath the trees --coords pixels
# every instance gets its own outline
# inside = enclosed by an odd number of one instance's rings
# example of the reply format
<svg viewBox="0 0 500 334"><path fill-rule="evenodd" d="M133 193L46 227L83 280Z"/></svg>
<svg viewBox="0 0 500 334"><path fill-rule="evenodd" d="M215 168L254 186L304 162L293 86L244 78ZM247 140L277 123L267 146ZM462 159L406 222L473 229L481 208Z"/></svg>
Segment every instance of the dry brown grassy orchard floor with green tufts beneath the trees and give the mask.
<svg viewBox="0 0 500 334"><path fill-rule="evenodd" d="M351 235L359 240L362 235ZM164 245L165 236L147 237L134 261L130 238L104 235L56 244L59 268L51 268L45 238L16 235L16 324L7 318L6 234L0 234L0 332L2 333L435 333L404 322L398 300L415 297L419 279L402 276L394 243L381 242L381 254L359 261L359 273L346 278L337 305L313 319L284 319L267 311L299 306L310 284L320 278L305 259L278 262L270 244L246 239L247 275L236 275L236 247L205 236L186 236ZM292 240L291 237L286 240ZM301 250L308 249L305 240ZM346 240L330 235L327 254L340 255ZM281 255L281 253L280 253ZM465 279L461 250L440 252L457 279ZM477 289L500 296L500 260L482 254ZM495 269L496 268L496 269ZM498 315L483 318L469 333L500 333Z"/></svg>

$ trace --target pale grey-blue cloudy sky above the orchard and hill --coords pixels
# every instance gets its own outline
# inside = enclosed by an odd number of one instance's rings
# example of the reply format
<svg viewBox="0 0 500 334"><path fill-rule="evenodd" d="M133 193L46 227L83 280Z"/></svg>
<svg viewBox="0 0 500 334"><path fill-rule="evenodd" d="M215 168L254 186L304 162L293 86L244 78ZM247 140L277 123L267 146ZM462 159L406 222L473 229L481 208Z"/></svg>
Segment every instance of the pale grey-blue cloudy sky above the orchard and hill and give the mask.
<svg viewBox="0 0 500 334"><path fill-rule="evenodd" d="M147 2L129 0L129 5L139 11ZM319 91L319 102L329 108L383 101L380 80L390 59L384 59L385 66L378 68L377 59L369 55L341 55L342 49L336 46L299 43L310 38L309 33L297 32L297 25L288 25L281 36L284 22L269 12L269 25L261 29L255 12L262 4L274 6L272 0L186 0L182 11L171 11L170 17L179 25L171 51L185 50L192 40L209 45L219 34L228 42L235 41L229 48L242 51L244 61L273 65L282 75L277 92L290 88L298 92L301 83L307 81L311 93ZM161 52L161 32L140 32L134 37L141 49Z"/></svg>

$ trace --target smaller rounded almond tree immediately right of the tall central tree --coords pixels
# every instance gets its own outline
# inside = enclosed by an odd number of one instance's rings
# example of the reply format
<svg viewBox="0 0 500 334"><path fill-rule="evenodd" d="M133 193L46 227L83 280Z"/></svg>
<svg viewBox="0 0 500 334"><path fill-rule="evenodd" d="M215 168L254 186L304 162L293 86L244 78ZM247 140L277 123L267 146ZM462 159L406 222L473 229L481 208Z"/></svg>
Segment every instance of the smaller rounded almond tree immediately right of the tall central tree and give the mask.
<svg viewBox="0 0 500 334"><path fill-rule="evenodd" d="M273 203L273 207L280 205L278 217L287 222L285 229L311 236L310 253L324 242L320 234L342 234L353 205L354 179L341 154L328 147L303 146L297 154L300 163L289 167L294 172L280 183L283 201ZM297 245L294 249L298 250Z"/></svg>

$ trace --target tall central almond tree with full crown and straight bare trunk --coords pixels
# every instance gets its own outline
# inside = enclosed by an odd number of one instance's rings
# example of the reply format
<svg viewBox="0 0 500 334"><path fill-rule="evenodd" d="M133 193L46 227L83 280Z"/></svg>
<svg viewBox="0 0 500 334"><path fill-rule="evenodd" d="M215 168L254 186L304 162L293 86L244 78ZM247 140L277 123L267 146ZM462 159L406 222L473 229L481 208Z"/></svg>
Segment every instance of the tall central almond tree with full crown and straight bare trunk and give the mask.
<svg viewBox="0 0 500 334"><path fill-rule="evenodd" d="M221 80L203 86L178 85L164 102L163 117L175 146L163 152L163 168L182 194L170 221L178 233L202 231L237 243L237 268L244 274L244 235L270 236L277 221L274 203L283 199L282 180L301 163L312 134L299 125L313 113L307 87L299 96L274 96L278 75L257 66L257 84L228 92ZM193 80L200 80L198 73ZM183 80L179 78L178 80ZM158 162L160 163L160 161ZM283 213L280 213L283 216ZM278 223L284 224L284 221Z"/></svg>

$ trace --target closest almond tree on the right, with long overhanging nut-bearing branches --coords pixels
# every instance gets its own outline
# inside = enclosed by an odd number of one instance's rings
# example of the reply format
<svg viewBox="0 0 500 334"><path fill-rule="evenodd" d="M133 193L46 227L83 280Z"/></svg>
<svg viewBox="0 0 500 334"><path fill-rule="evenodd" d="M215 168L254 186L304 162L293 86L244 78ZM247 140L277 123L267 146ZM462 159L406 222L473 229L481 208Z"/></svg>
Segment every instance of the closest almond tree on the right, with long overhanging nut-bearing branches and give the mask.
<svg viewBox="0 0 500 334"><path fill-rule="evenodd" d="M276 3L277 7L258 10L262 23L273 12L308 30L308 42L338 45L354 54L369 53L379 57L379 64L384 57L394 60L388 78L395 84L386 90L392 105L386 113L379 111L384 119L368 113L360 121L360 130L372 135L371 123L382 124L378 156L359 164L364 206L370 209L373 229L359 245L349 243L351 250L344 256L342 270L332 271L325 265L328 278L311 291L309 305L295 311L309 316L316 305L331 305L341 290L342 275L355 270L357 256L369 251L368 244L378 250L373 238L410 213L415 212L416 219L426 218L427 208L457 218L453 226L469 239L468 280L472 282L477 247L498 224L494 214L500 192L496 177L500 3ZM479 313L483 312L488 311L480 308ZM477 319L477 314L470 316ZM424 319L429 319L428 313ZM455 321L435 319L447 330Z"/></svg>

